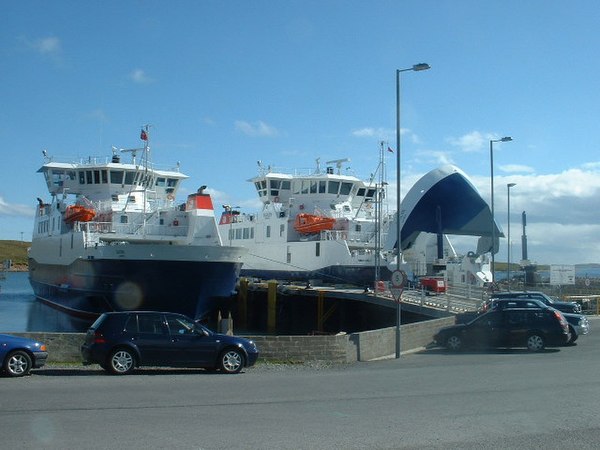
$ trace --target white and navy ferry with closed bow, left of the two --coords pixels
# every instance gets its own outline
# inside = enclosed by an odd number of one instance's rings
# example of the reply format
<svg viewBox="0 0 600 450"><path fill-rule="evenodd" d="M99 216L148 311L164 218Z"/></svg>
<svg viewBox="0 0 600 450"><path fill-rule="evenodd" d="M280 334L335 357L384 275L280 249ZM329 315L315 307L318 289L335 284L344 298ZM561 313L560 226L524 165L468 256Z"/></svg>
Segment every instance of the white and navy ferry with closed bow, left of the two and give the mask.
<svg viewBox="0 0 600 450"><path fill-rule="evenodd" d="M202 186L184 202L188 178L153 167L143 147L39 169L51 196L38 198L29 250L36 297L73 315L163 310L200 317L235 289L246 249L224 246ZM127 156L130 162L122 162Z"/></svg>

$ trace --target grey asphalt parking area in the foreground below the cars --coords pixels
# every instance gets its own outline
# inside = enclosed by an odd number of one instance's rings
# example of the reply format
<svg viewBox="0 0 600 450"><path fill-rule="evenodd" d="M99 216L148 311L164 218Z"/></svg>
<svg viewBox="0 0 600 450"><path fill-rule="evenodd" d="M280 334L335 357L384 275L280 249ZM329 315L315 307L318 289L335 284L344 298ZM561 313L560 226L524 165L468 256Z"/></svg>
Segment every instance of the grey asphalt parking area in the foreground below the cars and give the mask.
<svg viewBox="0 0 600 450"><path fill-rule="evenodd" d="M3 447L597 448L600 320L572 347L238 375L96 366L0 379Z"/></svg>

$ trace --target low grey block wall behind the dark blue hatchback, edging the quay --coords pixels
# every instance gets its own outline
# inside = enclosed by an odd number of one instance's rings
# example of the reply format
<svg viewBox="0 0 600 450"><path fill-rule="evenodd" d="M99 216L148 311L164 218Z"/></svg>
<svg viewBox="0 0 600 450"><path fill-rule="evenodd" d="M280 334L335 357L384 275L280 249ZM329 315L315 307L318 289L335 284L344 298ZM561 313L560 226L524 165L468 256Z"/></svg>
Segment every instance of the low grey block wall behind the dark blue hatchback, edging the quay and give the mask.
<svg viewBox="0 0 600 450"><path fill-rule="evenodd" d="M402 325L402 352L425 347L436 331L454 323L454 317ZM84 333L11 333L44 342L48 362L81 362L79 348ZM260 351L260 359L280 362L331 361L346 363L369 361L396 353L396 328L334 336L248 336Z"/></svg>

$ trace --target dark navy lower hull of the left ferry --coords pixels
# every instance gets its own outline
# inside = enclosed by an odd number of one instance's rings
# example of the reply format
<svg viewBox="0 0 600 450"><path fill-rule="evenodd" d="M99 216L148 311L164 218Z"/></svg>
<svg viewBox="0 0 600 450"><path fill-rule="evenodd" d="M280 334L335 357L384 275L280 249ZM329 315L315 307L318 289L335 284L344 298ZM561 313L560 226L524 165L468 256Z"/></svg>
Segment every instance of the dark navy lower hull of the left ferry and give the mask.
<svg viewBox="0 0 600 450"><path fill-rule="evenodd" d="M93 319L103 312L157 310L200 318L230 297L241 263L78 259L69 266L29 260L35 296L53 308Z"/></svg>

